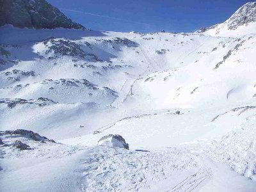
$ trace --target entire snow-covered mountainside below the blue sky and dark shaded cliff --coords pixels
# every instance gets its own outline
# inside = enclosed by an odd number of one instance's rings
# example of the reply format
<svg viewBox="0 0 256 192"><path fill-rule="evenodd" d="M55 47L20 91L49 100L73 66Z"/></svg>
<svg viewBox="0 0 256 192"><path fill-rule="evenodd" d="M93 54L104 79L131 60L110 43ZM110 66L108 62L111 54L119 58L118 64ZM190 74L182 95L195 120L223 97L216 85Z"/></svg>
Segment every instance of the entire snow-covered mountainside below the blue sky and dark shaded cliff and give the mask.
<svg viewBox="0 0 256 192"><path fill-rule="evenodd" d="M256 192L255 8L196 33L1 27L0 191Z"/></svg>

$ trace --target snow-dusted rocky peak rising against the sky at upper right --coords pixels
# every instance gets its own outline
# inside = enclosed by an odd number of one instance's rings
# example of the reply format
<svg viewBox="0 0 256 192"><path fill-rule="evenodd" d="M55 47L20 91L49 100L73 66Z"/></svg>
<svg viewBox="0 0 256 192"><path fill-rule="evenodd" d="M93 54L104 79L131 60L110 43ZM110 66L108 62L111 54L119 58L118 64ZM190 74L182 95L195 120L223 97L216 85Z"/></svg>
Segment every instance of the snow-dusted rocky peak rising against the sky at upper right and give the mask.
<svg viewBox="0 0 256 192"><path fill-rule="evenodd" d="M211 36L236 37L256 33L256 2L244 4L225 22L201 28L198 32Z"/></svg>

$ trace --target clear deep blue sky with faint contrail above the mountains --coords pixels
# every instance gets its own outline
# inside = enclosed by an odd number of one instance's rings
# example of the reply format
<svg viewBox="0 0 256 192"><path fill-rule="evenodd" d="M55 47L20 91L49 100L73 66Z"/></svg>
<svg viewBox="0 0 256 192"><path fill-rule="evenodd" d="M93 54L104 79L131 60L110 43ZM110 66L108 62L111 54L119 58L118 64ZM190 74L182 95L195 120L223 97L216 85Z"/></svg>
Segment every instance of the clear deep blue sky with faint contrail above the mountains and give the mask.
<svg viewBox="0 0 256 192"><path fill-rule="evenodd" d="M245 0L47 0L99 31L193 32L227 20Z"/></svg>

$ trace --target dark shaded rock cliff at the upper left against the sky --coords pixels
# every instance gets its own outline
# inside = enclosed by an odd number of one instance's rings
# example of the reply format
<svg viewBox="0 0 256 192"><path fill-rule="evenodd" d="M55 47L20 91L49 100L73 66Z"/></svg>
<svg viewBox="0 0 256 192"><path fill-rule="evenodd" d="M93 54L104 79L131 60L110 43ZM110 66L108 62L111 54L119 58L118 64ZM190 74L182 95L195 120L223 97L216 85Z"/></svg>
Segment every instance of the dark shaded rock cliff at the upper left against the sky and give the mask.
<svg viewBox="0 0 256 192"><path fill-rule="evenodd" d="M18 28L86 29L72 22L45 0L1 0L0 26L12 24Z"/></svg>

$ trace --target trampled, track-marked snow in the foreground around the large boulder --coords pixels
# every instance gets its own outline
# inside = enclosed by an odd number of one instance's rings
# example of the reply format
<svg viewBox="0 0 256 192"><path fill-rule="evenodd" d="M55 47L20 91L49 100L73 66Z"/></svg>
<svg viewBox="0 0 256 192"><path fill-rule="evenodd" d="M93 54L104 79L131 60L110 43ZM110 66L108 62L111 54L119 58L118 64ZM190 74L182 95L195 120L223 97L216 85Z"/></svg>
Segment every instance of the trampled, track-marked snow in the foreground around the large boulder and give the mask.
<svg viewBox="0 0 256 192"><path fill-rule="evenodd" d="M255 192L255 122L252 116L225 136L158 150L149 143L148 150L125 150L2 134L1 191ZM31 150L13 147L15 140Z"/></svg>

